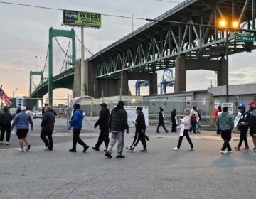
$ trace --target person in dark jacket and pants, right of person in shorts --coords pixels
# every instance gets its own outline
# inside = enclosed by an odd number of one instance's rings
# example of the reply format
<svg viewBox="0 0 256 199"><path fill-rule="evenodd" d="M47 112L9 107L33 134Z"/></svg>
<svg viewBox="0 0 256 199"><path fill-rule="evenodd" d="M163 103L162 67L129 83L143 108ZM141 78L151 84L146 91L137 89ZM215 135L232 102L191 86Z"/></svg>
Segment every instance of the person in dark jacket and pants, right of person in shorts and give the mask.
<svg viewBox="0 0 256 199"><path fill-rule="evenodd" d="M46 151L53 151L53 129L54 129L54 122L55 116L52 112L50 112L50 107L44 107L44 114L43 119L41 122L41 139L43 140ZM46 138L48 136L48 139Z"/></svg>

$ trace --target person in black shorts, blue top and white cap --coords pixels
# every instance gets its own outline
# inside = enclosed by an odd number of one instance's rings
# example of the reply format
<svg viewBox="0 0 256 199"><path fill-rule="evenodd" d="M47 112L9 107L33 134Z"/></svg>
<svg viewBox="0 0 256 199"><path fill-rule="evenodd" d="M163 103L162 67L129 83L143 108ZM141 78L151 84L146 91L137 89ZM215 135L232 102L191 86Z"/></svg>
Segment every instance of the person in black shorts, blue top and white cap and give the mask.
<svg viewBox="0 0 256 199"><path fill-rule="evenodd" d="M14 122L11 125L11 130L14 128L14 126L17 127L17 136L18 136L18 144L20 148L18 151L23 152L23 142L26 143L26 151L29 151L31 149L31 145L28 141L28 130L29 130L29 124L31 126L31 131L33 131L33 121L29 114L26 113L26 107L21 107L21 112L19 114L16 114L14 118Z"/></svg>

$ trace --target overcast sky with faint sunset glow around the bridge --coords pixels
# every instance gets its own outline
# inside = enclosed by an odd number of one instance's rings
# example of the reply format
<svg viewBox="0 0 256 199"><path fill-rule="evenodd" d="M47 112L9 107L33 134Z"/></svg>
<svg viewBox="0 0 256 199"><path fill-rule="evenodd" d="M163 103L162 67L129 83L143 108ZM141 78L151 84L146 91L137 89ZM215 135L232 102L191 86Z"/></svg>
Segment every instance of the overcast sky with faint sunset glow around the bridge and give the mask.
<svg viewBox="0 0 256 199"><path fill-rule="evenodd" d="M134 17L138 18L156 18L177 5L156 0L6 1L102 14L122 16L134 14ZM51 26L56 29L70 28L61 26L62 11L0 4L0 13L0 85L3 85L10 97L16 88L18 88L18 95L28 95L29 71L37 70L35 55L43 57L39 63L39 70L43 69L48 49L48 29ZM134 29L144 23L146 21L134 20ZM75 28L75 31L80 36L80 29ZM102 28L98 30L85 29L85 45L93 53L97 53L99 43L101 49L105 48L131 31L132 19L102 16ZM158 73L160 81L161 72ZM230 56L230 85L255 82L255 74L255 53L240 53ZM201 77L200 82L198 82L198 77ZM210 86L210 79L213 80L214 86L215 77L215 72L188 71L187 90L206 89ZM134 91L134 82L130 82L130 85L131 90ZM60 94L55 91L54 94L61 97L63 92Z"/></svg>

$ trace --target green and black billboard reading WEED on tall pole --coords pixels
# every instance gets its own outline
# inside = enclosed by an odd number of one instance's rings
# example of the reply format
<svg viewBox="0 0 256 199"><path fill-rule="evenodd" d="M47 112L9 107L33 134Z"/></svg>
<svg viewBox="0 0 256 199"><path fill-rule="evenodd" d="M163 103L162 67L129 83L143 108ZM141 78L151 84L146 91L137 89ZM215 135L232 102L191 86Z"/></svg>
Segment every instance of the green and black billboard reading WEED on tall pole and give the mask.
<svg viewBox="0 0 256 199"><path fill-rule="evenodd" d="M63 25L100 28L101 14L63 10Z"/></svg>

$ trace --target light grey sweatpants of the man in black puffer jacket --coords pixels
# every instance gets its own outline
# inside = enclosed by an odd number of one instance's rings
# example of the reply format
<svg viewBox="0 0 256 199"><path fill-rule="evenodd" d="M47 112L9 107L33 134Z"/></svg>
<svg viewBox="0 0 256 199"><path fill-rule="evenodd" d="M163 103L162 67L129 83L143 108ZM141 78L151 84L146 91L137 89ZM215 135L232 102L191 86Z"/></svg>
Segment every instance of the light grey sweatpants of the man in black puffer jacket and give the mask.
<svg viewBox="0 0 256 199"><path fill-rule="evenodd" d="M110 143L107 147L107 152L109 154L112 153L112 149L114 144L117 142L117 156L122 155L122 151L124 149L124 132L112 132L110 137Z"/></svg>

